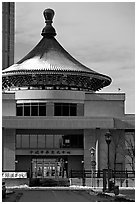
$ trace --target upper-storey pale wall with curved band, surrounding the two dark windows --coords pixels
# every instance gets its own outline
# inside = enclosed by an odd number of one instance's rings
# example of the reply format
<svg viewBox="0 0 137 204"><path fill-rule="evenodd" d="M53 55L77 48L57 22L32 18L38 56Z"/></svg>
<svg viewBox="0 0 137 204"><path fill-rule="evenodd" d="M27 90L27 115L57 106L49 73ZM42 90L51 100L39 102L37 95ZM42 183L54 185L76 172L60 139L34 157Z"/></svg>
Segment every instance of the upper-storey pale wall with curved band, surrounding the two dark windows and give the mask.
<svg viewBox="0 0 137 204"><path fill-rule="evenodd" d="M21 90L3 94L3 116L16 115L16 101L47 103L47 116L54 115L54 103L77 103L77 115L86 117L123 117L124 94L98 94L61 90Z"/></svg>

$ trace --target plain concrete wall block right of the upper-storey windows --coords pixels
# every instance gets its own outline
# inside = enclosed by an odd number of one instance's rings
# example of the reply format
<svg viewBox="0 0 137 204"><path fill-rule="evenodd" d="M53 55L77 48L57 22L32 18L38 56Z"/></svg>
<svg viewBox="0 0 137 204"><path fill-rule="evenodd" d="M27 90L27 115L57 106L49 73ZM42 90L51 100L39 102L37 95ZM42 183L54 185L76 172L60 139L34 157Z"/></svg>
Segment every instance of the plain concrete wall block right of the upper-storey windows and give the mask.
<svg viewBox="0 0 137 204"><path fill-rule="evenodd" d="M86 94L85 116L90 117L122 117L124 116L123 94Z"/></svg>

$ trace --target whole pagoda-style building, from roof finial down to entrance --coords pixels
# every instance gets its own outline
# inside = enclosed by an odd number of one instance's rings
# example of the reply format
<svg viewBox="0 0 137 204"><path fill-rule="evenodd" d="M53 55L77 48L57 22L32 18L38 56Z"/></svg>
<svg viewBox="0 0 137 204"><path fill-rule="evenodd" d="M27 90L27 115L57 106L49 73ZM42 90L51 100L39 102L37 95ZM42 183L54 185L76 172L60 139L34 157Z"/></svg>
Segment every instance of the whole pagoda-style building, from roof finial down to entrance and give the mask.
<svg viewBox="0 0 137 204"><path fill-rule="evenodd" d="M107 168L105 133L110 131L110 168L131 169L127 139L134 144L134 115L125 114L125 94L96 93L111 83L75 60L56 41L54 11L44 11L42 40L3 70L3 171L32 176L69 175ZM126 154L125 154L126 153ZM125 158L125 155L128 158Z"/></svg>

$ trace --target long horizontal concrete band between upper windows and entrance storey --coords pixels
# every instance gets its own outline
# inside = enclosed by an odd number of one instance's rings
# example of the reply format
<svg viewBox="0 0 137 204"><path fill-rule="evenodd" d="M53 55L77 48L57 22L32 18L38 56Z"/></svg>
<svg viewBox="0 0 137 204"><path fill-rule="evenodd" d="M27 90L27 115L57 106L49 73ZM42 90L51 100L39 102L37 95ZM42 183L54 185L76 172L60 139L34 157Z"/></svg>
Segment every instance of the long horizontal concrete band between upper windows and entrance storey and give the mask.
<svg viewBox="0 0 137 204"><path fill-rule="evenodd" d="M16 129L90 129L90 128L114 128L113 118L90 118L79 116L55 116L55 117L3 117L2 126Z"/></svg>

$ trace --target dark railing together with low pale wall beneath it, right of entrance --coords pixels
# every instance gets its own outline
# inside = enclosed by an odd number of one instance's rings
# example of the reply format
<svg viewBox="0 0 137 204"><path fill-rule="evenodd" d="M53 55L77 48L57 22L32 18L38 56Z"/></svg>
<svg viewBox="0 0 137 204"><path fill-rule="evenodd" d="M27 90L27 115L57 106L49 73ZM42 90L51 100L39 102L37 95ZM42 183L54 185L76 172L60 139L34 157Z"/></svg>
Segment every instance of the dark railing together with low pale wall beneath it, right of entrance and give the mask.
<svg viewBox="0 0 137 204"><path fill-rule="evenodd" d="M106 179L108 171L106 170ZM103 187L103 170L71 170L69 172L71 185L92 185L96 187ZM120 187L135 187L135 171L109 171L109 178L111 182Z"/></svg>

